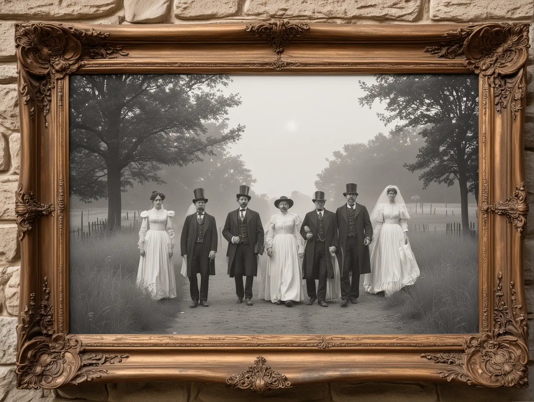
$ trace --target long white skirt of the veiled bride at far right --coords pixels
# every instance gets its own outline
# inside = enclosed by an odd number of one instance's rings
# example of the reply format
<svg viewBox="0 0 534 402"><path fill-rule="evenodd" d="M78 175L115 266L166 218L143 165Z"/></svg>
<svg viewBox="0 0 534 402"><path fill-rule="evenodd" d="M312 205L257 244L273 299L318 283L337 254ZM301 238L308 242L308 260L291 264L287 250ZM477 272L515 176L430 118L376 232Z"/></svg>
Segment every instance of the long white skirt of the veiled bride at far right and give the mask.
<svg viewBox="0 0 534 402"><path fill-rule="evenodd" d="M418 277L419 267L410 243L404 244L402 227L384 223L371 253L371 273L364 277L365 290L368 293L383 290L388 297L413 285Z"/></svg>

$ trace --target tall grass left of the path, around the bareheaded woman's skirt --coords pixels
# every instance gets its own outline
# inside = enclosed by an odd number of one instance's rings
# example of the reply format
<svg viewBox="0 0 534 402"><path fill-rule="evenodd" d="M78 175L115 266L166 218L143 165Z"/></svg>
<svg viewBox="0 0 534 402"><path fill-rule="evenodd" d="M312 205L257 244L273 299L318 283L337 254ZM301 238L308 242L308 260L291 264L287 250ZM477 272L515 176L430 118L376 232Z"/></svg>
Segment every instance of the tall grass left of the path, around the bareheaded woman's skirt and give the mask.
<svg viewBox="0 0 534 402"><path fill-rule="evenodd" d="M176 317L179 295L155 301L147 287L136 285L138 240L135 231L122 231L70 242L70 333L154 333ZM174 266L179 293L183 277L176 253Z"/></svg>

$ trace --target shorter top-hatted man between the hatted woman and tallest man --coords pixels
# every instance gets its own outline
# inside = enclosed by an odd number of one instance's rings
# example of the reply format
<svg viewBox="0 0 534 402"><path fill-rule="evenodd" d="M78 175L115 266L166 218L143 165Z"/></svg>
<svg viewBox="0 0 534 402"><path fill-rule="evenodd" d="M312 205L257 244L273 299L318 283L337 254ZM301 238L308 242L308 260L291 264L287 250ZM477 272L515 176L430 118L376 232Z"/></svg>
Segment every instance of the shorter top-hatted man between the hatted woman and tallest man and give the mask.
<svg viewBox="0 0 534 402"><path fill-rule="evenodd" d="M321 307L326 304L326 280L334 278L334 264L329 253L337 251L337 219L334 212L325 209L325 193L316 191L312 199L315 209L308 212L301 225L301 235L307 240L302 261L303 279L312 305L317 299ZM315 288L315 281L319 286Z"/></svg>

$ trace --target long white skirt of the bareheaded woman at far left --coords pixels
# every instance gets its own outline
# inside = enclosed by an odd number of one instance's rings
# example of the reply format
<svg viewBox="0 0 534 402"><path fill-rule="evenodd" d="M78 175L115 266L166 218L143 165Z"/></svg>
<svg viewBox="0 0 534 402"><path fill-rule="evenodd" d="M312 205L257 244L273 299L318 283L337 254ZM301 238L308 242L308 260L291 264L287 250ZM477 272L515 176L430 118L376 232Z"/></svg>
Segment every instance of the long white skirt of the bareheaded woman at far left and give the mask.
<svg viewBox="0 0 534 402"><path fill-rule="evenodd" d="M145 236L145 256L139 257L137 284L147 286L152 298L176 297L176 280L172 257L169 258L170 238L167 231L149 230Z"/></svg>

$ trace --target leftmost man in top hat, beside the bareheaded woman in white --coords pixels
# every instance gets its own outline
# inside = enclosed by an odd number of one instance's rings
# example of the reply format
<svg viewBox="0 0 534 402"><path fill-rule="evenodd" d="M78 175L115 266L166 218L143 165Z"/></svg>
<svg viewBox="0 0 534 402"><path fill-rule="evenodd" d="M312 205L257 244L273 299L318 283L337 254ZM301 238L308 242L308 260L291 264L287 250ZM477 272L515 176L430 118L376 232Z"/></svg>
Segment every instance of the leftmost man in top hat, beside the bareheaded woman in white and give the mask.
<svg viewBox="0 0 534 402"><path fill-rule="evenodd" d="M187 277L191 293L191 308L208 306L209 275L215 275L215 253L217 253L217 224L215 218L206 213L208 199L203 188L195 188L193 204L197 212L185 218L180 238L182 257L187 257ZM197 274L200 273L200 292Z"/></svg>

